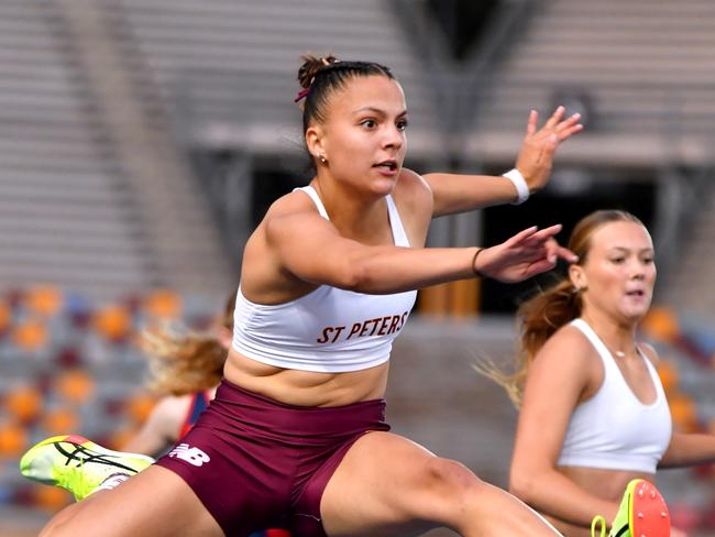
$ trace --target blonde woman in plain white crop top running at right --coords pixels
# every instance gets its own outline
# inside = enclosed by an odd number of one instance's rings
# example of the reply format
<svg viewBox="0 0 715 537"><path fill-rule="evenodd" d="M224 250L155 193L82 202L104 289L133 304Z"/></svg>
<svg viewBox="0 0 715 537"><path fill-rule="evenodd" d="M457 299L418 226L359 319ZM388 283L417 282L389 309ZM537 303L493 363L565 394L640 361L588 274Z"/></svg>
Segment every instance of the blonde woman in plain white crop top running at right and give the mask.
<svg viewBox="0 0 715 537"><path fill-rule="evenodd" d="M510 491L564 535L590 535L595 515L615 520L616 535L629 524L616 515L624 489L657 468L714 461L715 437L672 431L658 357L636 338L656 283L645 226L596 211L569 248L579 255L569 277L521 305L521 362L502 377L520 406ZM669 535L667 507L651 515L635 535Z"/></svg>

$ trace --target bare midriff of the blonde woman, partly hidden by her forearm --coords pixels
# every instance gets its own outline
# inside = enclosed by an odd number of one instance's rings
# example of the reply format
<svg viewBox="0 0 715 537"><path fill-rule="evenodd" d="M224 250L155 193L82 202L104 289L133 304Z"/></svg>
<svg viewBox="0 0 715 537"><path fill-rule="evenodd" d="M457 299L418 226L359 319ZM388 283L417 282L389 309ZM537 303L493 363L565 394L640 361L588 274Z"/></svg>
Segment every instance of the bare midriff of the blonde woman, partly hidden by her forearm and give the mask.
<svg viewBox="0 0 715 537"><path fill-rule="evenodd" d="M651 482L654 481L654 476L650 473L627 470L559 467L559 472L594 496L616 503L620 503L626 485L630 480L641 478ZM591 537L591 529L588 528L574 526L549 516L547 518L566 537ZM610 524L612 520L607 520L607 523Z"/></svg>

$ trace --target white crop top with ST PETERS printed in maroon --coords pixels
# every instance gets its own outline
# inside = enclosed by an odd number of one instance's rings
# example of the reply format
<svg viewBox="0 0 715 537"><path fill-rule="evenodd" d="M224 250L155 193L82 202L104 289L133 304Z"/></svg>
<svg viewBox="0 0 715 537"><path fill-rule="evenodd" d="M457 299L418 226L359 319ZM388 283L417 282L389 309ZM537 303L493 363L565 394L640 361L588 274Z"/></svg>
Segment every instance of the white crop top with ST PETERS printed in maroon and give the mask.
<svg viewBox="0 0 715 537"><path fill-rule="evenodd" d="M312 187L296 190L310 196L328 219ZM409 248L395 202L391 196L386 199L393 241ZM296 300L266 306L248 300L239 287L233 348L252 360L294 370L339 373L373 368L389 359L416 295L365 295L321 285Z"/></svg>

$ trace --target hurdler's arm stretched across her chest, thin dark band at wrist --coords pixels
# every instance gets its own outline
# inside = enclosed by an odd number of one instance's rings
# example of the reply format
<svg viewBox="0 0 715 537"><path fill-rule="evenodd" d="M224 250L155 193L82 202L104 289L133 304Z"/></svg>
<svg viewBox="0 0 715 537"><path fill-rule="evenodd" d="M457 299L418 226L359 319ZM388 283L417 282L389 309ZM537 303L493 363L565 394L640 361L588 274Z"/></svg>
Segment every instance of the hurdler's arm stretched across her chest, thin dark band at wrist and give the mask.
<svg viewBox="0 0 715 537"><path fill-rule="evenodd" d="M311 212L271 218L267 243L282 272L302 282L358 293L389 294L484 275L520 282L553 267L562 257L576 256L553 237L561 226L536 227L496 246L400 248L366 245L341 237L336 228Z"/></svg>

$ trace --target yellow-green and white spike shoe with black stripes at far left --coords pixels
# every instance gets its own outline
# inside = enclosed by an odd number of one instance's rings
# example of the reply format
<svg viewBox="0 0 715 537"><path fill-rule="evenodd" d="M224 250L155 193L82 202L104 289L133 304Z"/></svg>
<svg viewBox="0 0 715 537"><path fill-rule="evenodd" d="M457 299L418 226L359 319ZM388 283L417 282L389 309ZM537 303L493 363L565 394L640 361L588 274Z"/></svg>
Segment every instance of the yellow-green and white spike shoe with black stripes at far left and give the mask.
<svg viewBox="0 0 715 537"><path fill-rule="evenodd" d="M77 435L62 435L36 443L20 460L28 479L69 491L76 500L95 492L113 476L131 476L150 467L144 454L105 449Z"/></svg>

